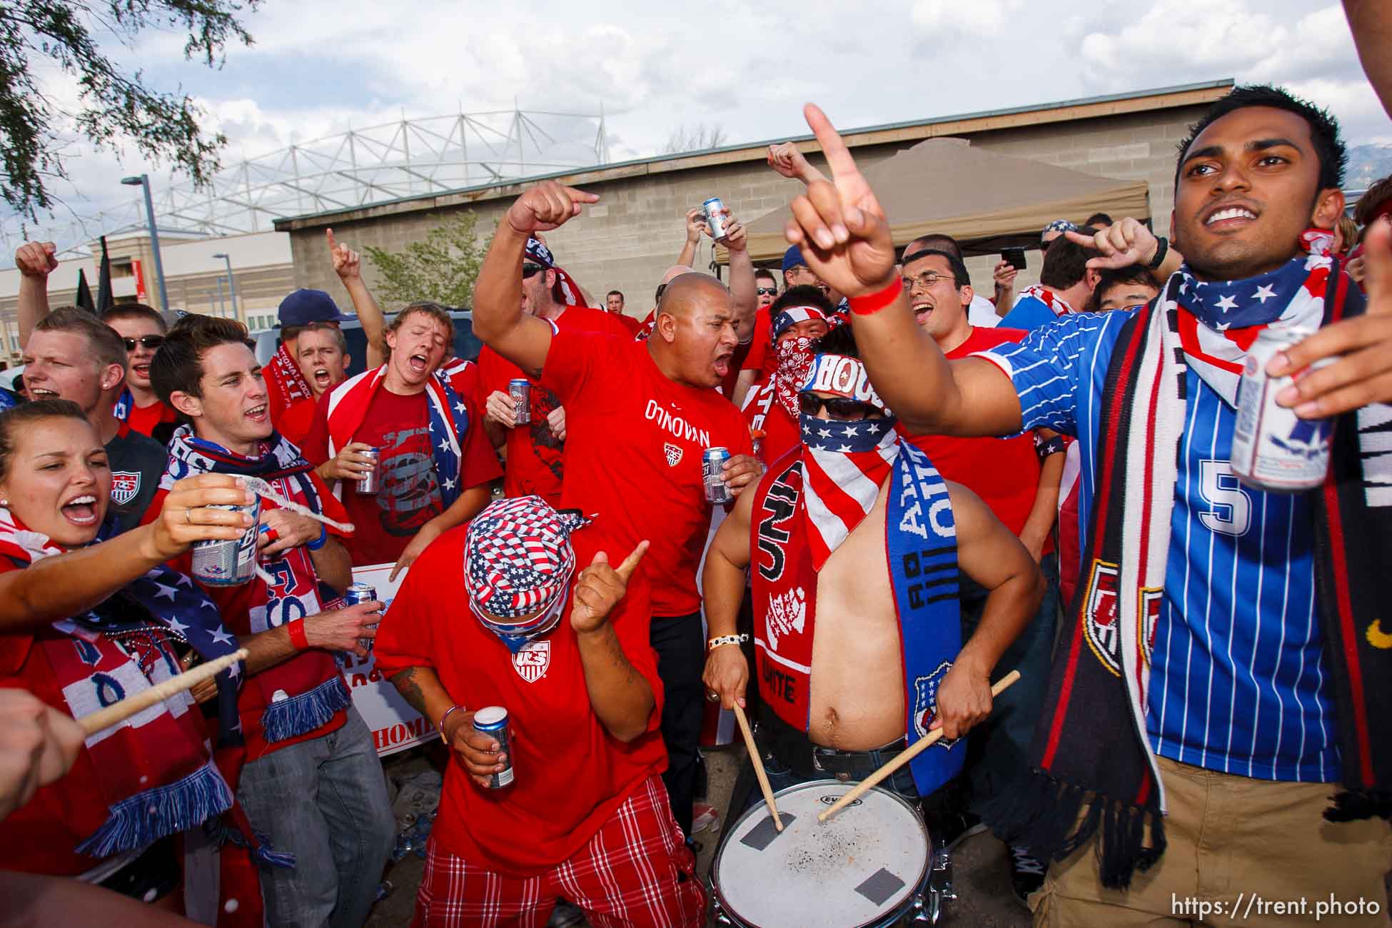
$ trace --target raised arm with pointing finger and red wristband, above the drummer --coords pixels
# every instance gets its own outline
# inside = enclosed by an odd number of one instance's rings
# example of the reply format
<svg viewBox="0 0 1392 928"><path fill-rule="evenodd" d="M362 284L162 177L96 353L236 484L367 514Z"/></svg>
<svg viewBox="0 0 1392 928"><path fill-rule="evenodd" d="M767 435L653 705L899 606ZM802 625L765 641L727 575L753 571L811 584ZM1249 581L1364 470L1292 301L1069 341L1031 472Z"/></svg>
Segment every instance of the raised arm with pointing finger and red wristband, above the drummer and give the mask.
<svg viewBox="0 0 1392 928"><path fill-rule="evenodd" d="M851 298L856 345L880 397L910 434L1018 431L1020 401L1009 378L981 359L949 363L915 323L880 200L825 114L812 103L803 113L832 179L813 181L792 202L785 235L821 280Z"/></svg>

